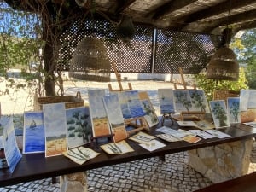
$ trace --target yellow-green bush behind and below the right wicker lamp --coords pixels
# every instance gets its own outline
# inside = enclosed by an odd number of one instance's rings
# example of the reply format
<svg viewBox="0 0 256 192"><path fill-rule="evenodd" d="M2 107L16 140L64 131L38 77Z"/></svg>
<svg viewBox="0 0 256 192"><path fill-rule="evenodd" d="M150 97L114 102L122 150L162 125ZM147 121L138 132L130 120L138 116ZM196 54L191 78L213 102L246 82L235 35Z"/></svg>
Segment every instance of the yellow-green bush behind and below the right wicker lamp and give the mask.
<svg viewBox="0 0 256 192"><path fill-rule="evenodd" d="M247 89L247 79L244 68L240 67L238 81L207 79L206 73L195 74L196 86L205 91L207 100L211 101L214 90L236 90Z"/></svg>

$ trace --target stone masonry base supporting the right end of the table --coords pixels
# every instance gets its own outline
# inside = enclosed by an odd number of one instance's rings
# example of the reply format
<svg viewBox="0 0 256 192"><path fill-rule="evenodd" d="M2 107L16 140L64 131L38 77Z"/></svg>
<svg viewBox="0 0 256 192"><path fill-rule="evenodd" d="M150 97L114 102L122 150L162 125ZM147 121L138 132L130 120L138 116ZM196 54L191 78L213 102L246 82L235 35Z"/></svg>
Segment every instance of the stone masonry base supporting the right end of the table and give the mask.
<svg viewBox="0 0 256 192"><path fill-rule="evenodd" d="M189 151L188 164L212 183L240 177L248 172L253 139Z"/></svg>

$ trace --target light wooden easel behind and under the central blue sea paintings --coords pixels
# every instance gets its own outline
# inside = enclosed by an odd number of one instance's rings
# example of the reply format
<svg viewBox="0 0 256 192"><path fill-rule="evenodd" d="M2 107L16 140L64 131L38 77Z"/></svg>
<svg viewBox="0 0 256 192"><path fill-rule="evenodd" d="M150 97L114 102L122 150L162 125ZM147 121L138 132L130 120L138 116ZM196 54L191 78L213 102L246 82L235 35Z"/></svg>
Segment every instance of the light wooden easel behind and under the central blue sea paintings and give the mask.
<svg viewBox="0 0 256 192"><path fill-rule="evenodd" d="M116 79L119 84L119 89L113 90L112 85L108 84L108 90L112 91L112 92L132 90L131 83L128 83L128 87L129 87L128 89L123 89L121 75L118 73L115 63L113 63L113 70L114 70ZM137 122L139 122L139 124L137 124ZM125 125L130 125L132 127L135 127L135 129L132 129L131 131L127 131L129 135L131 135L137 131L149 130L148 123L144 117L125 119Z"/></svg>

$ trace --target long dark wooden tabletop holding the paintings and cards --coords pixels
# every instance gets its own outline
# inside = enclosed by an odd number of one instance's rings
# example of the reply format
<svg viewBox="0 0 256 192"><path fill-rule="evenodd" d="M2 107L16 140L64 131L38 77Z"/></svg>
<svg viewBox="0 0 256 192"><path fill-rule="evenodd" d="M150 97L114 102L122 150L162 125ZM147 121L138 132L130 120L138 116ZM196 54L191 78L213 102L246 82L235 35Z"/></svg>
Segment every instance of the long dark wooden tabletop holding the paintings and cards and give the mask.
<svg viewBox="0 0 256 192"><path fill-rule="evenodd" d="M129 143L131 148L133 148L135 151L128 154L119 155L106 154L101 148L99 148L99 146L95 146L93 149L101 154L96 156L96 158L85 162L82 166L79 166L63 155L45 158L44 154L23 154L22 159L15 167L13 174L11 174L8 169L0 170L0 187L48 177L66 175L74 172L84 172L86 170L91 170L102 166L112 166L132 160L142 160L154 156L164 156L165 154L172 154L190 149L204 148L207 146L230 143L256 137L256 131L247 125L237 124L219 130L229 134L231 137L226 137L223 139L202 139L200 142L194 144L184 141L166 143L161 140L162 143L166 144L166 147L160 148L153 152L149 152L148 150L140 147L138 143L127 139L127 143ZM149 133L155 135L160 132L152 129L149 131Z"/></svg>

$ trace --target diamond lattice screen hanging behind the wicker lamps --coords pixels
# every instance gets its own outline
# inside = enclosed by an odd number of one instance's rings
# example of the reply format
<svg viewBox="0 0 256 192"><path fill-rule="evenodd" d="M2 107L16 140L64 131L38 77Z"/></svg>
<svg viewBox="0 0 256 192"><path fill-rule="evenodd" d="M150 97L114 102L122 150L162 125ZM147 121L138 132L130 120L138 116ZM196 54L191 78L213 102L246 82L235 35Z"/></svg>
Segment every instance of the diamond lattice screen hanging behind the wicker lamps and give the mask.
<svg viewBox="0 0 256 192"><path fill-rule="evenodd" d="M179 73L178 67L183 67L183 73L199 73L207 66L215 50L210 36L157 30L154 57L154 29L135 26L135 38L131 44L124 44L117 40L115 28L110 22L76 20L61 35L59 67L68 71L77 44L84 36L91 35L101 39L107 46L110 61L116 63L119 73Z"/></svg>

